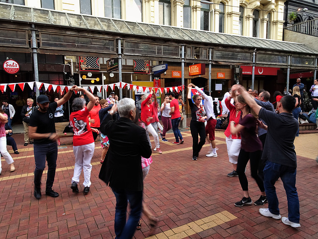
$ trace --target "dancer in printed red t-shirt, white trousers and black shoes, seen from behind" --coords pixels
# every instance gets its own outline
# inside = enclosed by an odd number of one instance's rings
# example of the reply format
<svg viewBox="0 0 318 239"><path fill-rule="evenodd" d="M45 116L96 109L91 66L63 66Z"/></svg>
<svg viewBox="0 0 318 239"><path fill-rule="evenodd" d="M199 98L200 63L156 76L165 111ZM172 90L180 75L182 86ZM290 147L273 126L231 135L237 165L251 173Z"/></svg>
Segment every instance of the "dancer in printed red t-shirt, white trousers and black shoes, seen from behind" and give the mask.
<svg viewBox="0 0 318 239"><path fill-rule="evenodd" d="M93 108L96 99L95 96L82 87L76 87L76 91L84 92L89 102L85 106L85 100L78 97L73 100L72 110L70 115L70 124L74 130L73 136L73 151L75 155L74 175L72 177L72 190L75 193L79 192L78 183L81 170L84 173L84 190L86 194L89 192L90 187L90 172L92 165L90 164L91 158L94 154L95 143L92 131L98 134L97 129L90 128L88 118L89 111Z"/></svg>

